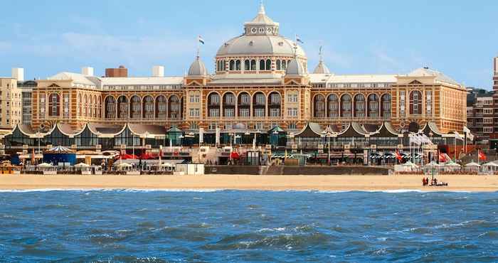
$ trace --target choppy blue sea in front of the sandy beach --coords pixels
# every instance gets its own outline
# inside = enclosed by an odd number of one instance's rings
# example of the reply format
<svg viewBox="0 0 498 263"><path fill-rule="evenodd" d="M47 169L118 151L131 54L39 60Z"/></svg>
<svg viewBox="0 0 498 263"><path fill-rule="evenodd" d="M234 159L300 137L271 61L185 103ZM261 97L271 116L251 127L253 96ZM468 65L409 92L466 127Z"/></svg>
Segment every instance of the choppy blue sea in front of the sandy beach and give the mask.
<svg viewBox="0 0 498 263"><path fill-rule="evenodd" d="M498 262L498 193L0 193L1 262Z"/></svg>

